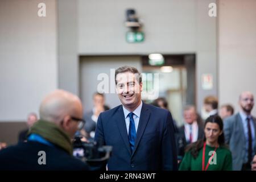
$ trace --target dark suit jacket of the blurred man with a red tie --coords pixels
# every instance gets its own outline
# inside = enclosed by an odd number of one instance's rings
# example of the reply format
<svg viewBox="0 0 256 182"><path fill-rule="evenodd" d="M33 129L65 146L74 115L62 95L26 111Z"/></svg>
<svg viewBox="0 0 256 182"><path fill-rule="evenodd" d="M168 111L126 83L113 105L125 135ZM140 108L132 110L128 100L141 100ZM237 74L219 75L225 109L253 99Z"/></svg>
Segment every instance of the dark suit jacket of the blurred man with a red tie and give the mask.
<svg viewBox="0 0 256 182"><path fill-rule="evenodd" d="M179 132L176 136L176 140L177 140L177 155L179 156L179 158L182 158L184 156L184 151L185 151L185 147L189 144L186 140L185 137L185 128L184 125L181 126L179 129ZM204 138L204 128L201 127L200 125L198 126L198 138L199 139L203 139Z"/></svg>

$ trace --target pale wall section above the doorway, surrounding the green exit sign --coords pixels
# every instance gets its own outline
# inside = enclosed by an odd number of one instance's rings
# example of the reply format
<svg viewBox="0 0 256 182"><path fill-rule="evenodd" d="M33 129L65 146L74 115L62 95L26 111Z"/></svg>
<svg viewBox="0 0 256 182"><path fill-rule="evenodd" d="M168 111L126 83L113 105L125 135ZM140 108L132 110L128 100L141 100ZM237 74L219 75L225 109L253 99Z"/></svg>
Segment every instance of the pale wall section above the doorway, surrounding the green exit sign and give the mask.
<svg viewBox="0 0 256 182"><path fill-rule="evenodd" d="M79 0L79 53L195 52L195 0ZM145 41L126 43L126 9L143 20Z"/></svg>

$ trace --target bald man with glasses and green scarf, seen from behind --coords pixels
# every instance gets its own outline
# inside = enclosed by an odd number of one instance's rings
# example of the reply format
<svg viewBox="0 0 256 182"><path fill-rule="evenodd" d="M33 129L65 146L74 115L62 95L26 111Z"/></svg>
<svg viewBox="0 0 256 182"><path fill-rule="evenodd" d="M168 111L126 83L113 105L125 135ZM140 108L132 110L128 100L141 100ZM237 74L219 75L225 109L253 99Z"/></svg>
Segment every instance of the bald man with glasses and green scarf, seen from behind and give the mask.
<svg viewBox="0 0 256 182"><path fill-rule="evenodd" d="M80 99L64 90L48 94L27 142L0 151L1 170L88 170L72 156L71 138L82 129Z"/></svg>

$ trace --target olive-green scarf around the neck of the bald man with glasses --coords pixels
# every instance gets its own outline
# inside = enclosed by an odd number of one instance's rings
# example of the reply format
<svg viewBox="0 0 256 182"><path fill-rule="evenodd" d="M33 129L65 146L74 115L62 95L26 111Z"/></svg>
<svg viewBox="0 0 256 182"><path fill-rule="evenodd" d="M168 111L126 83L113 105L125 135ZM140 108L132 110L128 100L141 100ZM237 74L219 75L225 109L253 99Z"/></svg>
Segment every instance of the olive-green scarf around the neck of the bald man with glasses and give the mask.
<svg viewBox="0 0 256 182"><path fill-rule="evenodd" d="M40 135L48 140L48 142L63 148L72 155L73 148L71 139L68 137L68 134L55 123L39 120L31 127L30 131L28 131L28 135L32 133Z"/></svg>

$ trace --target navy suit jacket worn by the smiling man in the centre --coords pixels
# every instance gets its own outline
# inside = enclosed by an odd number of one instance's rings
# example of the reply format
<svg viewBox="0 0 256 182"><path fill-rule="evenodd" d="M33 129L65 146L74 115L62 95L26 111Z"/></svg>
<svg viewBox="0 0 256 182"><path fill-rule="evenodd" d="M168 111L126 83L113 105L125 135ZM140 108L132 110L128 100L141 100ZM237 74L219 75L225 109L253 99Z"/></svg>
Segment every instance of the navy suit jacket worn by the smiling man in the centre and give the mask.
<svg viewBox="0 0 256 182"><path fill-rule="evenodd" d="M95 140L113 146L109 170L177 170L174 124L168 110L143 103L133 153L122 105L100 114Z"/></svg>

